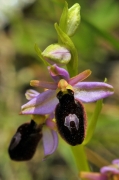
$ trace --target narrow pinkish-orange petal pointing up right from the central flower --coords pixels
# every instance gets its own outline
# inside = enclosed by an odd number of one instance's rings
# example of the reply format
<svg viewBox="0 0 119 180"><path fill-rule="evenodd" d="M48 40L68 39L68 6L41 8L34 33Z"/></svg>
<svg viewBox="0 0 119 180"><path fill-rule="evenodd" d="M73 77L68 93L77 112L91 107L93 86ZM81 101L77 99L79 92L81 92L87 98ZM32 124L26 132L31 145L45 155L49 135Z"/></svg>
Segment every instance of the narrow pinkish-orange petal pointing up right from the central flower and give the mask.
<svg viewBox="0 0 119 180"><path fill-rule="evenodd" d="M91 71L88 69L88 70L85 70L83 71L82 73L78 74L77 76L71 78L69 80L69 84L71 84L72 86L75 85L76 83L80 82L80 81L83 81L84 79L86 79L88 76L90 76L91 74Z"/></svg>

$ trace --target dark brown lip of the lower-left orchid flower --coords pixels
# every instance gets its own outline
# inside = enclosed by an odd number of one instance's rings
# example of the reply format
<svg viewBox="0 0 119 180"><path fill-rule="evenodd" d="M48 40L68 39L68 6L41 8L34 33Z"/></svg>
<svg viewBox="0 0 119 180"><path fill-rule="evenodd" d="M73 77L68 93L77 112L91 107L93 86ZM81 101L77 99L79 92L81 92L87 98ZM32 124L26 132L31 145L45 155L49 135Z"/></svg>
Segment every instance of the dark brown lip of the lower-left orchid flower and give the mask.
<svg viewBox="0 0 119 180"><path fill-rule="evenodd" d="M9 145L10 158L15 161L30 160L41 137L41 128L33 120L19 126Z"/></svg>

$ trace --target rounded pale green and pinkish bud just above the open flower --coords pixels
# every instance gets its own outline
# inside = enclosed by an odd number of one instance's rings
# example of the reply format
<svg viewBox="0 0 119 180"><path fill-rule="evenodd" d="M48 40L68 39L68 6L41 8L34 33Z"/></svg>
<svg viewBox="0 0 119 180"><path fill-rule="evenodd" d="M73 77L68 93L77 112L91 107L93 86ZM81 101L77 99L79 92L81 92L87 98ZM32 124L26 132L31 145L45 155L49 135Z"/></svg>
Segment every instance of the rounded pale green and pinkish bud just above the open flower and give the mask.
<svg viewBox="0 0 119 180"><path fill-rule="evenodd" d="M66 65L70 59L71 54L68 49L59 44L51 44L43 52L42 56L50 64Z"/></svg>

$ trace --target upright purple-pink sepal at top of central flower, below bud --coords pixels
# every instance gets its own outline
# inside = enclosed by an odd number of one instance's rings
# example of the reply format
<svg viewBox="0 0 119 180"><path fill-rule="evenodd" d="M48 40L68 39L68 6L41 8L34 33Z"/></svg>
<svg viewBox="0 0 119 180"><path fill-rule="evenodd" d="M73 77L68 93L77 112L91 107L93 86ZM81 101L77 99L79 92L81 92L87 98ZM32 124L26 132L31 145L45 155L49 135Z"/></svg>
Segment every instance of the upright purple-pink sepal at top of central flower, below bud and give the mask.
<svg viewBox="0 0 119 180"><path fill-rule="evenodd" d="M58 67L56 64L48 67L49 73L54 81L58 82L60 79L69 80L69 73L63 69Z"/></svg>

